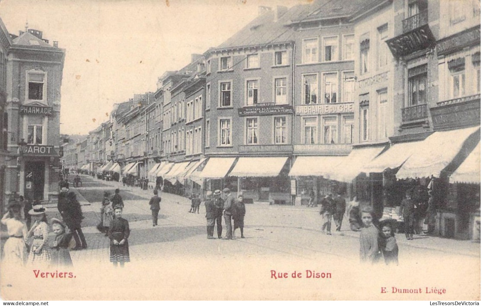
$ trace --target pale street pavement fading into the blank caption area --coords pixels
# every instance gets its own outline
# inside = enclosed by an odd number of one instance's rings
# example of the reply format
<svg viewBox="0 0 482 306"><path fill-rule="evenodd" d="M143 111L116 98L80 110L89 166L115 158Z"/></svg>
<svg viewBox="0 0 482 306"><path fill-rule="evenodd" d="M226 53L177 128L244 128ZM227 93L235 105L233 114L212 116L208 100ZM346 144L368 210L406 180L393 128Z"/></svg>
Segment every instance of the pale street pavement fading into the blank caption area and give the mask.
<svg viewBox="0 0 482 306"><path fill-rule="evenodd" d="M450 295L443 299L480 299L480 243L418 235L408 241L397 234L400 265L367 270L359 268L360 233L349 230L347 218L341 232L335 232L332 223L333 235L322 234L319 208L246 204L245 239L240 238L239 230L233 240L206 239L202 204L199 214L188 213L189 199L162 192L159 226L153 227L148 205L152 189L124 187L86 175L82 181L81 187L71 190L82 205L82 230L88 248L70 252L77 275L84 281L89 279L82 282L87 286L82 298L111 297L106 292L110 287L98 284L121 278L115 299L132 299L139 294L143 299L406 299L380 295L380 287L414 284L448 287ZM109 240L95 227L100 221L103 192L112 195L115 188L121 190L123 217L131 229L131 263L123 270L109 268ZM47 214L58 217L56 207L49 207ZM308 278L306 270L334 277L315 281ZM273 278L273 271L286 272L290 279ZM294 271L303 272L303 279L294 282ZM154 286L148 279L155 279L155 286L164 289L143 290ZM35 294L37 299L44 296L41 291ZM73 289L64 294L78 296ZM418 299L435 297L442 298L424 295Z"/></svg>

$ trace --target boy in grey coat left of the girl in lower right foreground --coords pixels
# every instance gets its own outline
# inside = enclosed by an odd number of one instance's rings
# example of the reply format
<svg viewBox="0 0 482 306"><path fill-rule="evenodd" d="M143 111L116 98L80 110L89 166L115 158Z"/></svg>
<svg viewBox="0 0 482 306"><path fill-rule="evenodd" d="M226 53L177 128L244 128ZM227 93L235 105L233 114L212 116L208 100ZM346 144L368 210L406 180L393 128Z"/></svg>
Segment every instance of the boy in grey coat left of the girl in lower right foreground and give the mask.
<svg viewBox="0 0 482 306"><path fill-rule="evenodd" d="M380 259L378 228L373 224L373 211L369 207L362 209L363 228L360 233L360 261L375 264Z"/></svg>

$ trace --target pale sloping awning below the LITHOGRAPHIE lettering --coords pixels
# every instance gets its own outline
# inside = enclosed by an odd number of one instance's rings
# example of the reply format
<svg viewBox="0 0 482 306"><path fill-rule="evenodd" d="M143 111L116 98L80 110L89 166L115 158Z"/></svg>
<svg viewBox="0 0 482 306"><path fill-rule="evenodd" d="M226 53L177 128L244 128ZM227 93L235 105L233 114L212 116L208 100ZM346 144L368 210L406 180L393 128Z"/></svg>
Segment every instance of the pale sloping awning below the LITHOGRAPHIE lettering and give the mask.
<svg viewBox="0 0 482 306"><path fill-rule="evenodd" d="M362 168L377 157L384 148L385 146L353 148L346 159L332 167L327 178L340 182L351 182L362 173Z"/></svg>

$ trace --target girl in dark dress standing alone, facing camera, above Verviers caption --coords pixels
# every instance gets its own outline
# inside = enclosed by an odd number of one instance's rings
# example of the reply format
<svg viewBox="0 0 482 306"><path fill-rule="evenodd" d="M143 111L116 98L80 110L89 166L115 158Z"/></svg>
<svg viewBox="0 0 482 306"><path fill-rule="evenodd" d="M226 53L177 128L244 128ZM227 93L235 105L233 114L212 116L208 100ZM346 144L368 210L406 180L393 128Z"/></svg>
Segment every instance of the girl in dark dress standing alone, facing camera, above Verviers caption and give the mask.
<svg viewBox="0 0 482 306"><path fill-rule="evenodd" d="M109 239L110 239L110 262L117 266L123 267L124 263L130 262L129 258L129 222L122 218L122 207L114 208L115 218L110 222Z"/></svg>

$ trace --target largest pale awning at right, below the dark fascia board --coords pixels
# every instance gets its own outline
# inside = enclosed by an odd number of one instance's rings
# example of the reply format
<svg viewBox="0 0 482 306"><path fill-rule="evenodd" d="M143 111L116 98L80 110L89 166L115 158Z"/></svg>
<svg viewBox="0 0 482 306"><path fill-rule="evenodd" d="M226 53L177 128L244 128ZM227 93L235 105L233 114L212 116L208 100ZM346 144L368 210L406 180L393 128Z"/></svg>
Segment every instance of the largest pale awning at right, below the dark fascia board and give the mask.
<svg viewBox="0 0 482 306"><path fill-rule="evenodd" d="M480 133L480 126L435 132L427 137L405 163L396 176L398 179L417 177L440 177L441 172L452 163L464 149L464 144L471 135ZM472 137L470 137L472 138ZM480 141L480 135L477 141ZM467 144L469 145L469 144ZM475 142L473 142L475 145ZM474 147L474 146L472 146Z"/></svg>

